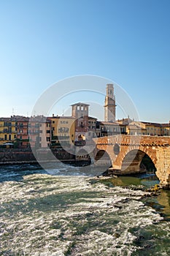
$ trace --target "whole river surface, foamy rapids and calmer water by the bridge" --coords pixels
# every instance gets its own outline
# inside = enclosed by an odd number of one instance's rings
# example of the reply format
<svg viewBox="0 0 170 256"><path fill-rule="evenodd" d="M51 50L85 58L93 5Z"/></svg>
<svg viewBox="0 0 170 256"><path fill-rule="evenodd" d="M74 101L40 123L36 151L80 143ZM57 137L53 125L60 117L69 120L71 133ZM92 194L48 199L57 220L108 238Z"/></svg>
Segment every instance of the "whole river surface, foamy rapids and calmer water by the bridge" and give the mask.
<svg viewBox="0 0 170 256"><path fill-rule="evenodd" d="M170 255L170 193L153 174L97 178L58 162L0 167L0 255Z"/></svg>

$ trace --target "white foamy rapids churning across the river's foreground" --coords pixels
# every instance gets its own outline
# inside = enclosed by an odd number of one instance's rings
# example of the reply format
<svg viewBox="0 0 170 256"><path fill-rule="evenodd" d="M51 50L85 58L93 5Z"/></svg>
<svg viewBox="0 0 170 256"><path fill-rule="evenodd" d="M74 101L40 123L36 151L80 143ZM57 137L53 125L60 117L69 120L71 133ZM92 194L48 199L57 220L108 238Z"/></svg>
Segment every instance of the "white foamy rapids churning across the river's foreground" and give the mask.
<svg viewBox="0 0 170 256"><path fill-rule="evenodd" d="M160 214L140 201L144 193L85 176L36 173L2 182L1 253L132 255L142 248L141 230L163 227Z"/></svg>

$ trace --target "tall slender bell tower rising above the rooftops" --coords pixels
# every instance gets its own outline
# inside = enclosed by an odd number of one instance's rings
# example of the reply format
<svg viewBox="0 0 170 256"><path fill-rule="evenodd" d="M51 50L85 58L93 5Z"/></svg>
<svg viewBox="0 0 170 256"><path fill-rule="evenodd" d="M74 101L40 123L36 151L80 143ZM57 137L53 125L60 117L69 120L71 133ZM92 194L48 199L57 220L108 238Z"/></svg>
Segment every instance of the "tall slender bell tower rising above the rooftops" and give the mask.
<svg viewBox="0 0 170 256"><path fill-rule="evenodd" d="M114 87L112 83L107 84L107 94L104 102L104 121L115 122L116 105Z"/></svg>

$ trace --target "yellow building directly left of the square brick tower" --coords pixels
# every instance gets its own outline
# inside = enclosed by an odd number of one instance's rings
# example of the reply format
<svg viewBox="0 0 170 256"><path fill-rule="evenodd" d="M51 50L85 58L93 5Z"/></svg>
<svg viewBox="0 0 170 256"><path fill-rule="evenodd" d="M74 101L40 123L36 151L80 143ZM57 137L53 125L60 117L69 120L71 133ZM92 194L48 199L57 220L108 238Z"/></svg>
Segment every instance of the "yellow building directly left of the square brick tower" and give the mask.
<svg viewBox="0 0 170 256"><path fill-rule="evenodd" d="M52 146L74 145L75 118L72 116L50 117L52 126Z"/></svg>

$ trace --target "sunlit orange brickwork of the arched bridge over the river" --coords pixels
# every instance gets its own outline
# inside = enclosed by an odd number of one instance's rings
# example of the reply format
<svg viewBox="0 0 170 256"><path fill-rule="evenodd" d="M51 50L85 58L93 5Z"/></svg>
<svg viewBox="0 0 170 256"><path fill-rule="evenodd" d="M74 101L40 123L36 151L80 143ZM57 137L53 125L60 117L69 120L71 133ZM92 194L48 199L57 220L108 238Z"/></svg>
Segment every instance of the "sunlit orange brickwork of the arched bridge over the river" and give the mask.
<svg viewBox="0 0 170 256"><path fill-rule="evenodd" d="M94 159L99 152L106 152L112 161L111 170L120 174L144 171L141 163L147 155L155 165L161 186L170 188L170 137L115 135L95 138L94 142Z"/></svg>

